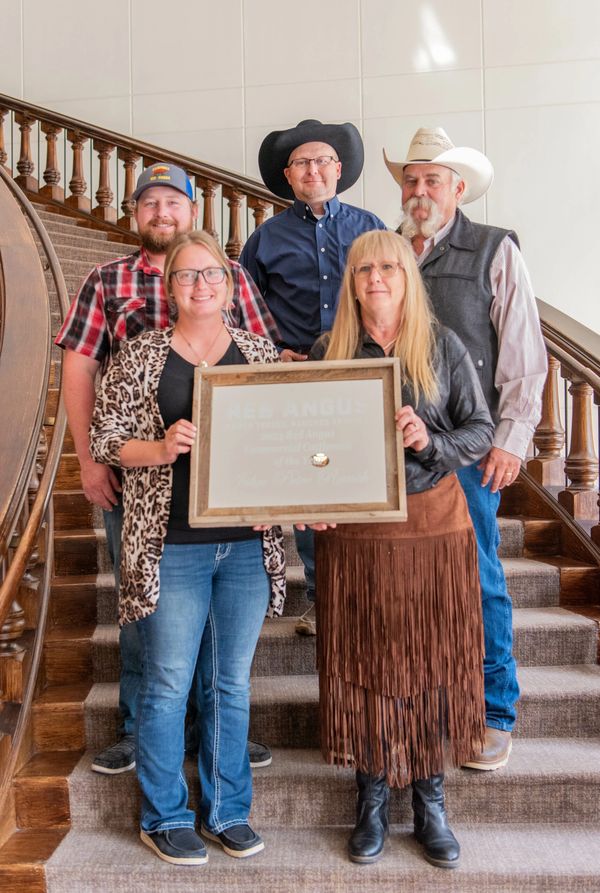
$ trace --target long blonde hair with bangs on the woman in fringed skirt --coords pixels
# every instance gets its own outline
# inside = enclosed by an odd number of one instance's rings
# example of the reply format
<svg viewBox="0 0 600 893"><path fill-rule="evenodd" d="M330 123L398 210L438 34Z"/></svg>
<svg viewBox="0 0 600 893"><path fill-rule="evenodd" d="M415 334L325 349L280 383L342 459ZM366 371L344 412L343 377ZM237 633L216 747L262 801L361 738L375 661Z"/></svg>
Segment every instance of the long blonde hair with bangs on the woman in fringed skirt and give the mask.
<svg viewBox="0 0 600 893"><path fill-rule="evenodd" d="M397 260L404 269L402 321L392 354L400 360L402 375L412 385L415 400L423 394L426 400L433 402L439 393L434 369L435 318L412 248L406 239L391 230L363 233L350 246L338 310L324 359L349 360L356 356L361 312L355 296L352 268L374 258Z"/></svg>

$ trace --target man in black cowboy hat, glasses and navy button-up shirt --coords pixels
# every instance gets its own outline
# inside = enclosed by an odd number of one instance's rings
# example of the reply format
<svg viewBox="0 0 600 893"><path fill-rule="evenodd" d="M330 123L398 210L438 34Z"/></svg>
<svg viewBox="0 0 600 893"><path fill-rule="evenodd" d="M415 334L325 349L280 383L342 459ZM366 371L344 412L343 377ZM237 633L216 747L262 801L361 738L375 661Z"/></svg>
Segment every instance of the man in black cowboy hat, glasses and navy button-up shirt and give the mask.
<svg viewBox="0 0 600 893"><path fill-rule="evenodd" d="M300 121L262 142L258 166L265 185L294 203L252 233L240 263L275 318L282 360L308 359L319 335L333 325L348 248L361 233L386 229L375 214L337 197L358 180L363 162L362 139L353 124ZM296 545L307 597L314 603L312 531L297 531ZM315 634L313 607L296 630Z"/></svg>

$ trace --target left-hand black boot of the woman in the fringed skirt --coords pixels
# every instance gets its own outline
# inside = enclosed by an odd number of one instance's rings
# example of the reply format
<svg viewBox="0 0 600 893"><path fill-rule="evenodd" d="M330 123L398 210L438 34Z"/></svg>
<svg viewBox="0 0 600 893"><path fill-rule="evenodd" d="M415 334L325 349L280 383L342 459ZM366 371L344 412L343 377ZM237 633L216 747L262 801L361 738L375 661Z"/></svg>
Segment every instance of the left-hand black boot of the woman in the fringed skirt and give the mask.
<svg viewBox="0 0 600 893"><path fill-rule="evenodd" d="M375 862L383 852L383 844L389 833L390 789L385 776L377 778L356 773L358 801L356 826L348 841L352 862Z"/></svg>

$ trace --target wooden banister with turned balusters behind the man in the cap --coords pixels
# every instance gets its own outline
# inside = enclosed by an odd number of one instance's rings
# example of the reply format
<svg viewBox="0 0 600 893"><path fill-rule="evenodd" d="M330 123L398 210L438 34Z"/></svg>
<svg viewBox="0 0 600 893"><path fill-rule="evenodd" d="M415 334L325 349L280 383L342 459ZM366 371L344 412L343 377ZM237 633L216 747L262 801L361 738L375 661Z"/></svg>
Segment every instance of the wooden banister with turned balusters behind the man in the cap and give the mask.
<svg viewBox="0 0 600 893"><path fill-rule="evenodd" d="M39 146L33 144L36 138ZM17 139L20 155L13 164L13 174L30 196L39 195L58 207L95 217L116 231L135 231L131 202L135 177L142 164L155 161L169 161L188 172L203 228L219 235L227 254L234 259L252 230L269 213L277 213L289 204L250 177L0 94L0 164L2 159L8 160L4 146L12 146ZM70 179L67 144L72 155ZM69 195L59 185L60 146L64 149L63 176ZM36 176L35 158L42 158L44 152L46 167ZM41 185L40 174L45 185ZM88 182L90 175L93 182ZM217 196L220 205L215 209Z"/></svg>

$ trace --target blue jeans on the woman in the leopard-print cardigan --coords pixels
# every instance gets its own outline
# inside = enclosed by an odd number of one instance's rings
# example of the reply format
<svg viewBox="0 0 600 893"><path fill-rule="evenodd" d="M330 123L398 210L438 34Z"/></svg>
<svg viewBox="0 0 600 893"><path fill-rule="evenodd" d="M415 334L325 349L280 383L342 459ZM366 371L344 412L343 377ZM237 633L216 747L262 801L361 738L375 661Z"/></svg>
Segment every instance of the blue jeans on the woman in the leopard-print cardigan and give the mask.
<svg viewBox="0 0 600 893"><path fill-rule="evenodd" d="M158 607L136 623L144 668L136 728L144 831L194 827L183 774L194 675L202 821L218 834L248 820L250 667L268 603L260 537L165 546Z"/></svg>

